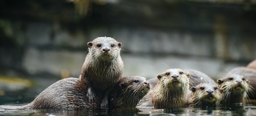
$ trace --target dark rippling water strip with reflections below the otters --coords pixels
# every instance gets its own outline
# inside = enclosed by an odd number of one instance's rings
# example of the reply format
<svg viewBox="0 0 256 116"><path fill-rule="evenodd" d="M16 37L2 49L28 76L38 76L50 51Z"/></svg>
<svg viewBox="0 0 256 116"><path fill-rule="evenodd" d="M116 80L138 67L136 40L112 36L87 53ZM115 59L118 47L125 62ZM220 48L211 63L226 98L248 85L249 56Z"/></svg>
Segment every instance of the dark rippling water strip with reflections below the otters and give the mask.
<svg viewBox="0 0 256 116"><path fill-rule="evenodd" d="M152 107L144 108L118 108L118 109L35 109L35 110L0 110L0 115L125 115L125 116L251 116L256 113L256 106L237 106L237 107L178 107L156 109Z"/></svg>

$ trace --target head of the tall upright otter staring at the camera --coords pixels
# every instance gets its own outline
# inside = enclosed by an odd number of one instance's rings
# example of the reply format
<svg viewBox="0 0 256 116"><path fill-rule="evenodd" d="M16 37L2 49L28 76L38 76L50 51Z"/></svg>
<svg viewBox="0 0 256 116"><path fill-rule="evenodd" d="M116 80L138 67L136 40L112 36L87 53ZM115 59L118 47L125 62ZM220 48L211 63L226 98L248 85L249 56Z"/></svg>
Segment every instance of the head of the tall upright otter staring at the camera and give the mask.
<svg viewBox="0 0 256 116"><path fill-rule="evenodd" d="M88 42L87 45L93 58L108 61L120 56L122 43L111 37L98 37L92 42Z"/></svg>

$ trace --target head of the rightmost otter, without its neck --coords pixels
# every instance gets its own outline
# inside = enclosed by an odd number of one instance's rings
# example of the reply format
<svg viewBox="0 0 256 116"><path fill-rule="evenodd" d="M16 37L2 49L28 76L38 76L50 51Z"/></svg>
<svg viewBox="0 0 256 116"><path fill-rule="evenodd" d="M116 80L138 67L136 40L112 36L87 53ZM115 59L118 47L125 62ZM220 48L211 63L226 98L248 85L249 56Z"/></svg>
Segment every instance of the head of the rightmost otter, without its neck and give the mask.
<svg viewBox="0 0 256 116"><path fill-rule="evenodd" d="M248 80L241 75L227 74L222 79L217 80L220 85L221 92L247 92Z"/></svg>

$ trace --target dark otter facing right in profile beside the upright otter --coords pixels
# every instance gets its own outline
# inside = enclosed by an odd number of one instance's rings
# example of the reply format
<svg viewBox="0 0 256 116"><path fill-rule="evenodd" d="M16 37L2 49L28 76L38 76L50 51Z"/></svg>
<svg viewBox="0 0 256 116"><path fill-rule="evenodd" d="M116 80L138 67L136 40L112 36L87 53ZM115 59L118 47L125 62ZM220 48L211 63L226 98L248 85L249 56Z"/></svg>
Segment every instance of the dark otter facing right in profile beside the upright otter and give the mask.
<svg viewBox="0 0 256 116"><path fill-rule="evenodd" d="M149 92L150 84L144 77L131 76L119 80L110 95L110 108L133 108Z"/></svg>

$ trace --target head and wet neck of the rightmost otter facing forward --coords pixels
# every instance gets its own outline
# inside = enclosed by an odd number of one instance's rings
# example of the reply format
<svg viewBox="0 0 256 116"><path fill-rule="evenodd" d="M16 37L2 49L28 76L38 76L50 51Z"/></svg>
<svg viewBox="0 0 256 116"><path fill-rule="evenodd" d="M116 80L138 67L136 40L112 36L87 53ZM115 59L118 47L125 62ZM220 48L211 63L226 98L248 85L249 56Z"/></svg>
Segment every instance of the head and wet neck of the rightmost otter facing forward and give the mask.
<svg viewBox="0 0 256 116"><path fill-rule="evenodd" d="M225 105L244 103L248 100L247 92L252 90L248 80L232 72L218 79L217 82L222 93L222 103Z"/></svg>

